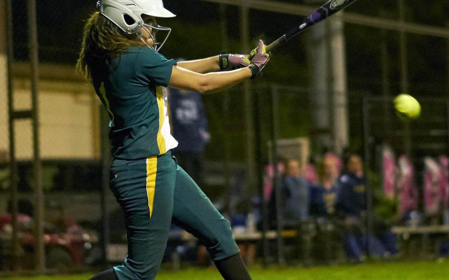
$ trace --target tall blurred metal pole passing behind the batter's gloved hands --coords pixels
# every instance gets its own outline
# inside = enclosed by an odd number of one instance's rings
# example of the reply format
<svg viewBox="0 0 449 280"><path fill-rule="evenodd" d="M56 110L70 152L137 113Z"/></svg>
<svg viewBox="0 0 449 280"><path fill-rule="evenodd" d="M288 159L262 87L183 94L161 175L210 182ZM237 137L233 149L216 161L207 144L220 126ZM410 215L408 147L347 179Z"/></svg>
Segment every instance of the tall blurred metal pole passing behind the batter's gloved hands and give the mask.
<svg viewBox="0 0 449 280"><path fill-rule="evenodd" d="M245 2L245 1L243 1ZM240 32L242 39L243 53L249 52L248 42L250 40L249 35L249 10L247 7L242 6L240 9ZM244 89L244 99L245 99L245 123L246 123L246 164L247 164L247 189L245 198L249 198L249 194L254 190L254 178L257 174L256 163L254 156L254 120L253 120L253 110L254 102L251 94L251 86L249 81L243 83Z"/></svg>

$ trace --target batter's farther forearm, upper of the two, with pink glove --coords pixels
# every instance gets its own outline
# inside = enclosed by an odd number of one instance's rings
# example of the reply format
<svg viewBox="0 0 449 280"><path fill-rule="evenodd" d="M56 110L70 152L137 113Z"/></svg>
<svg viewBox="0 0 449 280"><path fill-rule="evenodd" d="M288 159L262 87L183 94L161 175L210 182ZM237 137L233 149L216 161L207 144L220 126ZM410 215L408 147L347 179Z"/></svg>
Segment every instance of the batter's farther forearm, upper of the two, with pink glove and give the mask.
<svg viewBox="0 0 449 280"><path fill-rule="evenodd" d="M222 54L209 58L178 62L178 66L196 73L209 73L220 70L236 70L247 67L250 61L241 54Z"/></svg>

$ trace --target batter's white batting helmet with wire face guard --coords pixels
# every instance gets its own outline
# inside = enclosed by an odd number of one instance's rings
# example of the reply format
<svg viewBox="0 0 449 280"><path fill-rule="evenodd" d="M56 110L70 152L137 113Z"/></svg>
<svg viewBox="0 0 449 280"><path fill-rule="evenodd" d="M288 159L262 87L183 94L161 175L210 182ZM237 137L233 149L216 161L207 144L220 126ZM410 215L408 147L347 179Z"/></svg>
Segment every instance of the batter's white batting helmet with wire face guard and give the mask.
<svg viewBox="0 0 449 280"><path fill-rule="evenodd" d="M164 45L171 29L159 26L153 21L151 24L145 24L143 15L151 17L175 17L173 13L164 8L162 0L98 0L97 10L112 23L118 26L126 34L136 34L142 39L141 28L144 28L153 40L153 45L149 46L154 51L159 51ZM156 33L166 33L163 40L156 40Z"/></svg>

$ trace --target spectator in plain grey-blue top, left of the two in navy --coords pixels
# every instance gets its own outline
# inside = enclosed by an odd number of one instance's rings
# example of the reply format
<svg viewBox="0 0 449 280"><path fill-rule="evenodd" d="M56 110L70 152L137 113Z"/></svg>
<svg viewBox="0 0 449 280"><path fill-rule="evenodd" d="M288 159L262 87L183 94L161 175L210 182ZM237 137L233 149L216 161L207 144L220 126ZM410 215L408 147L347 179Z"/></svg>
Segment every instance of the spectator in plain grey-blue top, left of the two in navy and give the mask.
<svg viewBox="0 0 449 280"><path fill-rule="evenodd" d="M299 160L285 162L285 175L282 180L283 213L287 223L296 224L309 219L309 188L302 175Z"/></svg>

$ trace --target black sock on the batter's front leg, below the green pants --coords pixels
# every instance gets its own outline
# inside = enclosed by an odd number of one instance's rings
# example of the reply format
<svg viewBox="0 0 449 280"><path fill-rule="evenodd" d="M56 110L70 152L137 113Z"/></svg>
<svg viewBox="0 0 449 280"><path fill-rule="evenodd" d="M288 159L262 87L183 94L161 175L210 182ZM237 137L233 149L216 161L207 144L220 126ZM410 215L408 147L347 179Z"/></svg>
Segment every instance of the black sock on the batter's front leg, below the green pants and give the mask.
<svg viewBox="0 0 449 280"><path fill-rule="evenodd" d="M240 254L224 260L214 261L214 263L225 280L251 280Z"/></svg>

